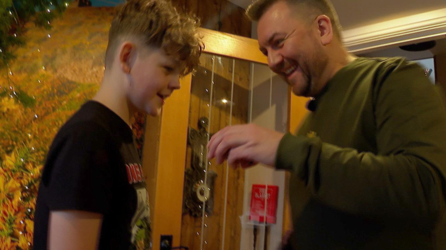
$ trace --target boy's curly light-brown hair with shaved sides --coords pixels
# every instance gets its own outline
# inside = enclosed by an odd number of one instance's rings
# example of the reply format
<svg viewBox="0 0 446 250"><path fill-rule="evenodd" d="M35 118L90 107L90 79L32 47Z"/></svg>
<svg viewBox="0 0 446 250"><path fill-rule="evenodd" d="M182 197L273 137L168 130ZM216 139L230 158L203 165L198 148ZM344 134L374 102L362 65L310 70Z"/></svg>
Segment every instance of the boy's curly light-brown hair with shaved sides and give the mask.
<svg viewBox="0 0 446 250"><path fill-rule="evenodd" d="M195 16L177 12L166 0L127 0L117 7L108 34L106 68L121 42L131 40L161 49L181 65L182 76L193 73L204 48Z"/></svg>

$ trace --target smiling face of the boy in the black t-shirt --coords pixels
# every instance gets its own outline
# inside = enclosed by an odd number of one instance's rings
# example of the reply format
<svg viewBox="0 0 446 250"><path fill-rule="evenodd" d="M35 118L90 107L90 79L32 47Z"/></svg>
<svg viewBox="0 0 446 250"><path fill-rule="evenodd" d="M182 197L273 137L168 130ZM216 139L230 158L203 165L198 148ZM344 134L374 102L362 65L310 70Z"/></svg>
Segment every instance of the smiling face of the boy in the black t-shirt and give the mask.
<svg viewBox="0 0 446 250"><path fill-rule="evenodd" d="M152 116L159 113L173 90L180 88L178 63L160 50L138 53L129 77L130 104Z"/></svg>

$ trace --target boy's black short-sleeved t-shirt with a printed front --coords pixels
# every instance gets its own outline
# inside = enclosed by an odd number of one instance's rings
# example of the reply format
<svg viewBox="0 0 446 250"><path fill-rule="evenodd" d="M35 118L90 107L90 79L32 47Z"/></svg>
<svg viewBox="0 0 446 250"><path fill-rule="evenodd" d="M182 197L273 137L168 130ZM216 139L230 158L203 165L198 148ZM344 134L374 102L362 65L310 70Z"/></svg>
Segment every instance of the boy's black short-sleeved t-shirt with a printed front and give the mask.
<svg viewBox="0 0 446 250"><path fill-rule="evenodd" d="M103 215L99 250L151 249L149 199L132 130L87 101L50 147L34 214L34 250L46 250L50 211Z"/></svg>

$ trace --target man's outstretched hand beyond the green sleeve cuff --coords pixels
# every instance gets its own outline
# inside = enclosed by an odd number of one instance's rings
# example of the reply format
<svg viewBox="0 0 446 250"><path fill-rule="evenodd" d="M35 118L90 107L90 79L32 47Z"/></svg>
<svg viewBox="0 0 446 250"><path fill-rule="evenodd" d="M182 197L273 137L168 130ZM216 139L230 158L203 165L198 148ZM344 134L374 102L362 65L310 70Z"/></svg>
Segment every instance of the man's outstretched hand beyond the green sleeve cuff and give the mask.
<svg viewBox="0 0 446 250"><path fill-rule="evenodd" d="M274 165L277 147L284 133L264 129L254 124L228 126L211 138L207 157L215 157L218 164L251 167L256 163Z"/></svg>

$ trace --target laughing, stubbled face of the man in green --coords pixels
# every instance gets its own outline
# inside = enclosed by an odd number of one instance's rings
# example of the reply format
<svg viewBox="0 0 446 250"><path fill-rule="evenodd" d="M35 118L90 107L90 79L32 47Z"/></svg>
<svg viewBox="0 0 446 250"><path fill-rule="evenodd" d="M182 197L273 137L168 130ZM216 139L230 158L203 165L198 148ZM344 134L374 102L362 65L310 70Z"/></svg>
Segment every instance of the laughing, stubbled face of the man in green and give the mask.
<svg viewBox="0 0 446 250"><path fill-rule="evenodd" d="M320 91L326 55L318 39L317 23L293 15L293 8L279 1L266 10L257 26L259 45L269 67L292 87L293 93L310 97Z"/></svg>

